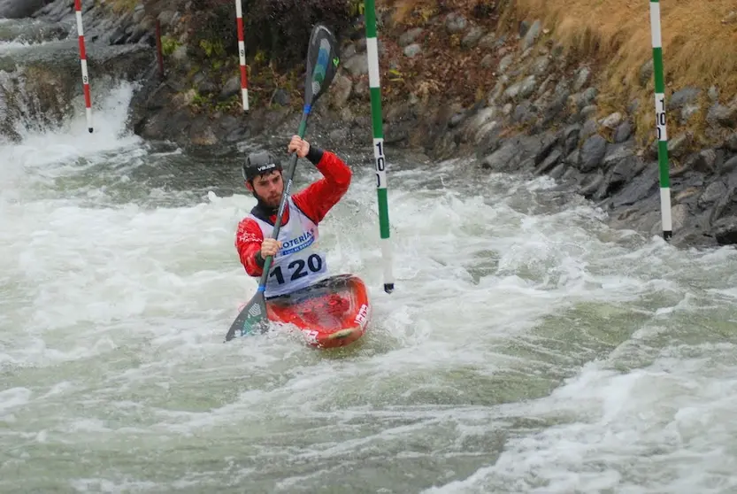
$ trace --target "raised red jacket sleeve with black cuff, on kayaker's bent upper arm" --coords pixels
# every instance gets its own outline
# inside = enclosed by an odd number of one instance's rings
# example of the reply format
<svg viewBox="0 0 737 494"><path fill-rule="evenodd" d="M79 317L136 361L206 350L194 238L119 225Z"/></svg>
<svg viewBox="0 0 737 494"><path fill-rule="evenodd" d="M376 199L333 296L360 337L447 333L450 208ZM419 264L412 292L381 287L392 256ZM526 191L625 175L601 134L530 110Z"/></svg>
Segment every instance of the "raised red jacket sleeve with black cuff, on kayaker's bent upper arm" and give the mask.
<svg viewBox="0 0 737 494"><path fill-rule="evenodd" d="M348 191L352 173L348 165L331 151L311 147L307 158L323 178L297 192L292 200L310 220L319 223Z"/></svg>

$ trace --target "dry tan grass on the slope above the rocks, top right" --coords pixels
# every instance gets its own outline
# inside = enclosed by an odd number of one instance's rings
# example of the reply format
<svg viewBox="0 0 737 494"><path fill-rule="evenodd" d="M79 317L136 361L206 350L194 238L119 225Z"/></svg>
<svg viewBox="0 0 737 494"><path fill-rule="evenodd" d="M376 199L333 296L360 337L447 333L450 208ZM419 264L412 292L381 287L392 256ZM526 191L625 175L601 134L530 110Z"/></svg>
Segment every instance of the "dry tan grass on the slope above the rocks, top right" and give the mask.
<svg viewBox="0 0 737 494"><path fill-rule="evenodd" d="M518 14L542 19L566 48L607 60L609 91L639 85L652 58L649 3L645 0L517 0ZM668 0L661 3L666 84L737 91L737 11L734 0ZM725 22L723 22L725 21Z"/></svg>

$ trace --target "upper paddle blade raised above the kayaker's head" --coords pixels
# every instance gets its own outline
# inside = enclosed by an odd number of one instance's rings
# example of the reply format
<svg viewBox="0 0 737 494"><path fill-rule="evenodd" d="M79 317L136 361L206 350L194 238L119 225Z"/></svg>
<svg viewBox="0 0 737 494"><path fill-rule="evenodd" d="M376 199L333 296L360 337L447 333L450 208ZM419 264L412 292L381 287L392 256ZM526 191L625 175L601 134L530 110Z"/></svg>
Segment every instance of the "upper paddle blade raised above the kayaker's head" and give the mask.
<svg viewBox="0 0 737 494"><path fill-rule="evenodd" d="M326 93L340 63L335 35L324 25L317 24L312 28L307 50L307 80L304 83L304 101L307 104L315 104Z"/></svg>

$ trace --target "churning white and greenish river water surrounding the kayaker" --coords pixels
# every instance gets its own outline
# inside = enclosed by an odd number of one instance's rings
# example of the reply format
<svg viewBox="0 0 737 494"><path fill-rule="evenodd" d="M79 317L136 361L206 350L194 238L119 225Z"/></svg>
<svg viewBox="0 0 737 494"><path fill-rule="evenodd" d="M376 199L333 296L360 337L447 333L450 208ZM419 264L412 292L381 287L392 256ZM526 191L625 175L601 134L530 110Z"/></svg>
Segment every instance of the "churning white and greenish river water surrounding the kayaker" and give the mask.
<svg viewBox="0 0 737 494"><path fill-rule="evenodd" d="M322 232L370 333L224 344L256 286L238 161L155 151L129 87L98 95L94 135L80 113L2 149L0 491L737 490L732 250L612 231L548 179L395 165L387 295L344 151Z"/></svg>

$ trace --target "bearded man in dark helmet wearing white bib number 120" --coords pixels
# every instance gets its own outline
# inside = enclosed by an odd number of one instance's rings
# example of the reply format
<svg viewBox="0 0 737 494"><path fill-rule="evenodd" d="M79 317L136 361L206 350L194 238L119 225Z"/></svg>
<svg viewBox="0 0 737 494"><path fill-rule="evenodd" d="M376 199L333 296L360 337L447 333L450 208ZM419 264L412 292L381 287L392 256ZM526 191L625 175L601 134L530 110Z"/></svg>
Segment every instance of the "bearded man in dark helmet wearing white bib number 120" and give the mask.
<svg viewBox="0 0 737 494"><path fill-rule="evenodd" d="M274 256L266 280L265 297L303 289L327 274L325 253L318 246L318 224L348 191L350 168L331 151L324 151L294 135L287 146L307 158L323 178L287 197L279 238L271 238L284 180L279 159L269 151L250 153L243 164L246 188L257 205L238 224L235 248L250 276L259 277L265 258Z"/></svg>

